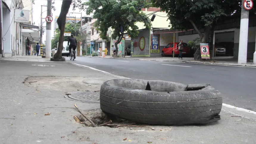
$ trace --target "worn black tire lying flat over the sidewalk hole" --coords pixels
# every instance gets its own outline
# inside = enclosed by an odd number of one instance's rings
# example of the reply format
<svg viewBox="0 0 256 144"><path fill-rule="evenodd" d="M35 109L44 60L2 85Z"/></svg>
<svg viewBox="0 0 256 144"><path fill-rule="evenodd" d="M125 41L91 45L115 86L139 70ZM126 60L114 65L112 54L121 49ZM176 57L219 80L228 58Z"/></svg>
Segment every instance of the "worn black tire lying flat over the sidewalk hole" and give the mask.
<svg viewBox="0 0 256 144"><path fill-rule="evenodd" d="M222 98L209 84L113 79L101 86L100 107L135 123L205 124L220 120Z"/></svg>

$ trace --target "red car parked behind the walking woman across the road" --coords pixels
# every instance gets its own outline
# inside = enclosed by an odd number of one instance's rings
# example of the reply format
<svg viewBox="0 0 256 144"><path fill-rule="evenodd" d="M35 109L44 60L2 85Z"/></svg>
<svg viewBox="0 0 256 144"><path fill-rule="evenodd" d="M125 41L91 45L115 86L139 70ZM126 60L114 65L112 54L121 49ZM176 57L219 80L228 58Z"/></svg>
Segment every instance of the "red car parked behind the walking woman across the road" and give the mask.
<svg viewBox="0 0 256 144"><path fill-rule="evenodd" d="M175 55L179 55L179 43L174 43L174 57ZM182 43L183 44L183 54L190 54L190 50L188 47L187 43ZM166 55L173 55L173 43L169 43L167 46L165 46L162 50L162 57L165 57Z"/></svg>

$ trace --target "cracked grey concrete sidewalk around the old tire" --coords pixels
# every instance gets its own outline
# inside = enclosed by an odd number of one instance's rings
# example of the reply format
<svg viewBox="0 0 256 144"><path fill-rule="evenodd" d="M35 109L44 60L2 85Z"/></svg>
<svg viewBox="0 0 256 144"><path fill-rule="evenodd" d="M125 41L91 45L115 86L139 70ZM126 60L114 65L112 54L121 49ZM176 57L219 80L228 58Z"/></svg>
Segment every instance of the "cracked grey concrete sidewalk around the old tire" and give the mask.
<svg viewBox="0 0 256 144"><path fill-rule="evenodd" d="M86 127L75 122L73 117L79 112L74 104L84 112L99 109L99 104L72 101L64 98L65 92L99 90L102 82L118 76L68 62L1 61L0 67L3 144L254 144L256 141L255 115L224 106L221 120L208 125L150 126L155 130Z"/></svg>

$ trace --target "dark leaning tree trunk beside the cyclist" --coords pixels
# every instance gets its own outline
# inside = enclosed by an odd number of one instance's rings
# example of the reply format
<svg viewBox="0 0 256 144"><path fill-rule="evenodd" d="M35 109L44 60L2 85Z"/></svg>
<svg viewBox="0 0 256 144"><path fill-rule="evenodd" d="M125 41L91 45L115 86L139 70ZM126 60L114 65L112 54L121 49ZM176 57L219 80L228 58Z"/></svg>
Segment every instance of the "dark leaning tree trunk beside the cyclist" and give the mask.
<svg viewBox="0 0 256 144"><path fill-rule="evenodd" d="M62 58L66 17L67 17L68 10L70 8L71 3L72 3L72 0L62 1L60 15L59 15L59 18L57 19L57 24L58 24L59 29L60 29L59 46L58 46L57 53L54 54L54 59L61 59Z"/></svg>

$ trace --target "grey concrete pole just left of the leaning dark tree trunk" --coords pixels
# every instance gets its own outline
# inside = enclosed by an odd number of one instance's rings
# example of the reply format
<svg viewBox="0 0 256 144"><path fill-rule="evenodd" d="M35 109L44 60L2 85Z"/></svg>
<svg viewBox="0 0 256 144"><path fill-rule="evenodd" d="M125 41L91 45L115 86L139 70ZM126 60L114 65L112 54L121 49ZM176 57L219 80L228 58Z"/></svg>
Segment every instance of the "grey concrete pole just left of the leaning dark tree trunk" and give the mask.
<svg viewBox="0 0 256 144"><path fill-rule="evenodd" d="M47 16L51 15L51 0L47 1ZM46 24L46 49L45 57L51 58L51 23Z"/></svg>

